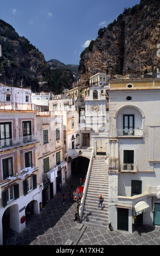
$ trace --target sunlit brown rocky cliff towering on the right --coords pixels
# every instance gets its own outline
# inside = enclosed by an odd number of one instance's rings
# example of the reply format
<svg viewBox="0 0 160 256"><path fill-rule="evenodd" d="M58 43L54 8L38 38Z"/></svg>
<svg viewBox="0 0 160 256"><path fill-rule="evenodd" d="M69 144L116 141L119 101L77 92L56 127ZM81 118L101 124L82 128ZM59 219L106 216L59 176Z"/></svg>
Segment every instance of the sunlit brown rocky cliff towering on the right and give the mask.
<svg viewBox="0 0 160 256"><path fill-rule="evenodd" d="M82 84L97 72L126 74L156 71L160 67L157 45L160 44L160 1L141 0L124 9L107 28L98 31L80 56Z"/></svg>

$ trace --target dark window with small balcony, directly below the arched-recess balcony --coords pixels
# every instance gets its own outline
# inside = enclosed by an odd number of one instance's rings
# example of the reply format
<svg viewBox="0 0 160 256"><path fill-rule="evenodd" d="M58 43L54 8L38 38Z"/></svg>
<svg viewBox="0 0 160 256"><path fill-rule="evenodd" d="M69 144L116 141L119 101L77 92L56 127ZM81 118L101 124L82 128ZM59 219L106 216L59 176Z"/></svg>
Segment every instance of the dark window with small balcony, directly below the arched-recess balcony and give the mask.
<svg viewBox="0 0 160 256"><path fill-rule="evenodd" d="M124 150L124 170L134 169L134 150Z"/></svg>

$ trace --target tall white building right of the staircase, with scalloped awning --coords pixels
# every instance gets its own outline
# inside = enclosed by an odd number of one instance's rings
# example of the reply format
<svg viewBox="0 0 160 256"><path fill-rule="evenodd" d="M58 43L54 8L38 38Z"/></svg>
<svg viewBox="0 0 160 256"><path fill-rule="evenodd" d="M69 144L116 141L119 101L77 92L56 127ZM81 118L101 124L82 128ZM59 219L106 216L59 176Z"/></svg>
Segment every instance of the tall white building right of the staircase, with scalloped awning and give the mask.
<svg viewBox="0 0 160 256"><path fill-rule="evenodd" d="M109 95L109 222L160 224L160 80L113 80Z"/></svg>

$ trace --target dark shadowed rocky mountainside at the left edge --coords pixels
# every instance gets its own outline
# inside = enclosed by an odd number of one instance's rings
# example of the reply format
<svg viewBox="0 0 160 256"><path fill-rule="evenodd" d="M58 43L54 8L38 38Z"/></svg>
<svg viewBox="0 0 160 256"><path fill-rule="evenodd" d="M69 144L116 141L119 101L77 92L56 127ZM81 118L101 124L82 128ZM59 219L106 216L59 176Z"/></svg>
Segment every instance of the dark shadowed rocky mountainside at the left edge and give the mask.
<svg viewBox="0 0 160 256"><path fill-rule="evenodd" d="M23 84L23 87L37 90L50 71L43 54L3 20L0 20L0 45L1 82L16 86Z"/></svg>

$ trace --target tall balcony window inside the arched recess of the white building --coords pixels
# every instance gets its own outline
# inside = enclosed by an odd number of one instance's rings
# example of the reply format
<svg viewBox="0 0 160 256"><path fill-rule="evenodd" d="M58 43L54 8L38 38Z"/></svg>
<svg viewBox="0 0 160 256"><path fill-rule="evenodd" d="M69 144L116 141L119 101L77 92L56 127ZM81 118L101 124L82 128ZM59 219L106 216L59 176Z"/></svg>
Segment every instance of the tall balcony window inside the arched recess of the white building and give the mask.
<svg viewBox="0 0 160 256"><path fill-rule="evenodd" d="M133 136L135 129L135 115L123 115L123 135Z"/></svg>

